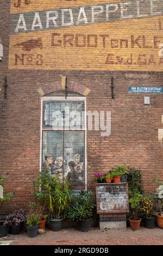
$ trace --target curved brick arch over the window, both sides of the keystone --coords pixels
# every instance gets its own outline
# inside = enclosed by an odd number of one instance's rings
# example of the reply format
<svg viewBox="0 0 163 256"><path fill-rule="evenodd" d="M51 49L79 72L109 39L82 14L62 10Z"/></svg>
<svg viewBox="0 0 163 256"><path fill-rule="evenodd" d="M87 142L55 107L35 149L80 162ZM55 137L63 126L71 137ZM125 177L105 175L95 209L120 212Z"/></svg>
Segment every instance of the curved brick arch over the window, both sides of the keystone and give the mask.
<svg viewBox="0 0 163 256"><path fill-rule="evenodd" d="M65 90L61 82L45 84L37 89L37 92L40 94L40 96L45 96L46 94L57 92L58 90ZM89 88L74 82L67 82L67 90L82 94L83 96L87 96L91 91Z"/></svg>

